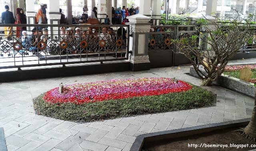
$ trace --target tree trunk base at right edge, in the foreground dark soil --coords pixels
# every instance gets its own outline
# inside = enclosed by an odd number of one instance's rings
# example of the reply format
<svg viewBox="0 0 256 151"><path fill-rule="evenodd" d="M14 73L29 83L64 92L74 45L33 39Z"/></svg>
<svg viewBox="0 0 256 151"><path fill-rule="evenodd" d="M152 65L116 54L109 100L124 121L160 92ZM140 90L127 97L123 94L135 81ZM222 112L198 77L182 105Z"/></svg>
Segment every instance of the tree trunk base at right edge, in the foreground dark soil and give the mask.
<svg viewBox="0 0 256 151"><path fill-rule="evenodd" d="M253 138L255 140L256 138L256 96L254 101L254 109L252 111L252 119L249 122L249 124L245 127L244 133L248 135L248 137Z"/></svg>

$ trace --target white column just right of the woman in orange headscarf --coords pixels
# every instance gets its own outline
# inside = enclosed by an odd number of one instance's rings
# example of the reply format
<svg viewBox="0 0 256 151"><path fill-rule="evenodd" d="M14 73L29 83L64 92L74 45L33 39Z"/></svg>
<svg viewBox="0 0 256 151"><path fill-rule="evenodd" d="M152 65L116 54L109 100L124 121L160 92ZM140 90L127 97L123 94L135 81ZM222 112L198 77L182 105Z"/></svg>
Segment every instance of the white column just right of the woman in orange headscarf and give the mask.
<svg viewBox="0 0 256 151"><path fill-rule="evenodd" d="M46 0L48 24L60 24L60 1L59 0ZM59 35L58 27L50 27L48 29L51 39Z"/></svg>

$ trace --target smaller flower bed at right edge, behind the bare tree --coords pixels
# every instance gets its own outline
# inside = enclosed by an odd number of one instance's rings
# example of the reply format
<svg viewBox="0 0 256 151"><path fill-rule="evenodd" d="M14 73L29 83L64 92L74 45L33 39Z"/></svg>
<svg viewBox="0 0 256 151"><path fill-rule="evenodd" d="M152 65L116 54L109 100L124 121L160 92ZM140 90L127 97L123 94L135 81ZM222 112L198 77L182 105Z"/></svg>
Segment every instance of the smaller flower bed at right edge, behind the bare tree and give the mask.
<svg viewBox="0 0 256 151"><path fill-rule="evenodd" d="M240 79L240 70L242 70L244 67L248 67L252 70L253 76L250 79L250 82L256 83L256 64L226 66L224 74Z"/></svg>

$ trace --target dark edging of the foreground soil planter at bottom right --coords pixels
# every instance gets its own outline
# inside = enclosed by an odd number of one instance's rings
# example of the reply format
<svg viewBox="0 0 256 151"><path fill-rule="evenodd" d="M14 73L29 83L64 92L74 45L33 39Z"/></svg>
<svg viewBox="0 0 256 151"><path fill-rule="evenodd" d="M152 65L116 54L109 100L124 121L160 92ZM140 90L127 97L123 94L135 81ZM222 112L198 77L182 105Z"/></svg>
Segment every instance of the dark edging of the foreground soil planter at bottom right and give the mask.
<svg viewBox="0 0 256 151"><path fill-rule="evenodd" d="M141 151L143 145L147 145L150 143L167 141L170 139L178 139L181 137L189 137L192 135L198 135L202 133L208 133L211 131L215 131L218 129L225 129L225 128L233 128L233 127L244 127L248 125L250 118L247 119L239 119L234 121L227 121L221 123L214 123L208 125L200 125L195 127L187 127L182 129L174 129L169 131L160 131L155 133L148 133L139 135L136 137L130 151ZM241 135L242 137L242 135Z"/></svg>

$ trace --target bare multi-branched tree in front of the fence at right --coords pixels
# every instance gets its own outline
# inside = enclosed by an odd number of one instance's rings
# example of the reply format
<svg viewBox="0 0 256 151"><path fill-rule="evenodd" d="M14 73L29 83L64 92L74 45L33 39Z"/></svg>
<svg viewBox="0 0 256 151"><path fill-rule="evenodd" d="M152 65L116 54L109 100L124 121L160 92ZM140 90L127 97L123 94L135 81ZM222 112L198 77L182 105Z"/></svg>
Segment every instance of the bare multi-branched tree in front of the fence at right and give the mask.
<svg viewBox="0 0 256 151"><path fill-rule="evenodd" d="M196 30L199 35L184 36L174 40L179 53L188 58L196 73L202 78L202 85L211 85L224 72L228 61L252 37L250 20L228 23L216 19L200 19ZM204 46L204 48L203 48ZM204 70L200 70L203 66Z"/></svg>

